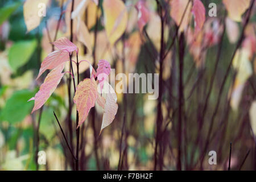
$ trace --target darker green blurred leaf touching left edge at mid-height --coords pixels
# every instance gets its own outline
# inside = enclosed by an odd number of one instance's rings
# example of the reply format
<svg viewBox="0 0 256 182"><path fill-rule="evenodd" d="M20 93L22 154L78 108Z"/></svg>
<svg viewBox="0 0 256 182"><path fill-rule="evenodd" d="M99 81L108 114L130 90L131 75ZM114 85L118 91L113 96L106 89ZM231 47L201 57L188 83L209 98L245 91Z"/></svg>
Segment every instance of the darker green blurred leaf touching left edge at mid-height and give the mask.
<svg viewBox="0 0 256 182"><path fill-rule="evenodd" d="M6 102L1 110L0 121L16 123L22 121L32 110L34 102L27 102L34 96L34 92L29 90L19 90L15 92Z"/></svg>

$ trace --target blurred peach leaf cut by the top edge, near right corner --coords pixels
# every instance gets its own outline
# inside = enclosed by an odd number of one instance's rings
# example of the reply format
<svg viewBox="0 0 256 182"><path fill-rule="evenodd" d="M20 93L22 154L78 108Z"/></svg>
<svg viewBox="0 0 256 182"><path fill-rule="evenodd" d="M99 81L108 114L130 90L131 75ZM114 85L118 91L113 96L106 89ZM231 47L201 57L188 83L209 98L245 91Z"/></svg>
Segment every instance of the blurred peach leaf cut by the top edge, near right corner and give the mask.
<svg viewBox="0 0 256 182"><path fill-rule="evenodd" d="M242 14L250 6L250 0L223 0L230 19L241 22Z"/></svg>

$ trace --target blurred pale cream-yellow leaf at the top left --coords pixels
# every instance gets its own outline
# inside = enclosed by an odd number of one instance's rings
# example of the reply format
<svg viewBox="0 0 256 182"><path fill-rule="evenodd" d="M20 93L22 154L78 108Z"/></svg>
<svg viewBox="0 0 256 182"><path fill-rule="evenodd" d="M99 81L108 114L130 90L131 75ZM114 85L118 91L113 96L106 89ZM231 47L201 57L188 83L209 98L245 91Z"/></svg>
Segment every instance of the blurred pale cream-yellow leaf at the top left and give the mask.
<svg viewBox="0 0 256 182"><path fill-rule="evenodd" d="M23 15L27 32L30 32L40 24L41 16L39 16L40 4L47 5L48 0L26 0L23 5Z"/></svg>

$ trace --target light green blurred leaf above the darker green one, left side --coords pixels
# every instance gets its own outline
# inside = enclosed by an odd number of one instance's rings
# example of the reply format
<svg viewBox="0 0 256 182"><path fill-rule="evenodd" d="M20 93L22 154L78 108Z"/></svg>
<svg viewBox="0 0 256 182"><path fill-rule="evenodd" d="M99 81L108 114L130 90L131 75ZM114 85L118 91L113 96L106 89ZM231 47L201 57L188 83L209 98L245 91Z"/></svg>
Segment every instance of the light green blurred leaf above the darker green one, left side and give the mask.
<svg viewBox="0 0 256 182"><path fill-rule="evenodd" d="M11 46L8 54L13 71L26 64L36 48L36 40L23 40Z"/></svg>

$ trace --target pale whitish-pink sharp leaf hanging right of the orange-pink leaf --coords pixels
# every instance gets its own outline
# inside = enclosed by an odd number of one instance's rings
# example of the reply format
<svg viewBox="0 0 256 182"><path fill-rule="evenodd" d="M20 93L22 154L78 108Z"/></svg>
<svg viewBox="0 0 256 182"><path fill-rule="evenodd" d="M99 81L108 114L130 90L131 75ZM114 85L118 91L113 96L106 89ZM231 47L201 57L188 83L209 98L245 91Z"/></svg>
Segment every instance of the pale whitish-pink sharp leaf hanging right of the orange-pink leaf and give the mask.
<svg viewBox="0 0 256 182"><path fill-rule="evenodd" d="M117 114L117 95L114 92L114 89L108 82L104 82L104 87L102 93L106 93L106 103L104 106L104 114L102 118L101 131L105 129L105 127L109 126L114 118L115 114ZM100 134L101 134L100 131Z"/></svg>

